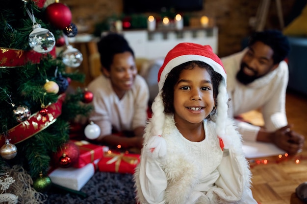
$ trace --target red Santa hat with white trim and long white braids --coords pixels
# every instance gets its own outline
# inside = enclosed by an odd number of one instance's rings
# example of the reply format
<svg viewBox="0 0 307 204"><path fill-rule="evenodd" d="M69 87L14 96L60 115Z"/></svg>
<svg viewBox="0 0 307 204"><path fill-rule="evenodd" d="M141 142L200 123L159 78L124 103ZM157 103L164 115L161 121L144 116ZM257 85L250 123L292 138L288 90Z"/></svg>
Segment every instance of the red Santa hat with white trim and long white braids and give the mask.
<svg viewBox="0 0 307 204"><path fill-rule="evenodd" d="M209 45L199 45L194 43L180 43L171 49L165 57L164 63L158 72L159 93L155 97L152 105L153 117L151 122L151 138L147 143L147 148L156 157L162 157L166 153L165 141L163 141L162 130L164 124L164 106L161 97L161 90L166 80L167 74L175 67L189 61L201 61L208 64L214 71L221 74L223 80L218 87L217 105L216 105L216 133L224 142L225 148L229 148L230 141L225 135L228 94L226 90L226 72L220 58L213 53ZM157 137L158 136L158 137ZM162 136L162 137L161 137ZM162 146L161 146L162 145ZM164 147L163 147L164 146Z"/></svg>

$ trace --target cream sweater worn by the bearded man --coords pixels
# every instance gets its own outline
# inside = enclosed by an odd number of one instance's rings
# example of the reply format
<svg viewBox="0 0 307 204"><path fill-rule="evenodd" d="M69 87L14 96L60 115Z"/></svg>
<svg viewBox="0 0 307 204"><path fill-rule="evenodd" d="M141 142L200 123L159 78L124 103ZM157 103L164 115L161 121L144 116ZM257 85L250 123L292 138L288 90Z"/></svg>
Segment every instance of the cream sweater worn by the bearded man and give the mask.
<svg viewBox="0 0 307 204"><path fill-rule="evenodd" d="M288 66L282 61L278 68L267 75L256 79L248 85L236 80L241 59L247 49L221 58L227 72L227 91L229 94L229 116L260 109L263 115L265 129L276 131L287 125L285 113L285 93L288 84ZM238 131L244 140L256 140L259 127L237 121Z"/></svg>

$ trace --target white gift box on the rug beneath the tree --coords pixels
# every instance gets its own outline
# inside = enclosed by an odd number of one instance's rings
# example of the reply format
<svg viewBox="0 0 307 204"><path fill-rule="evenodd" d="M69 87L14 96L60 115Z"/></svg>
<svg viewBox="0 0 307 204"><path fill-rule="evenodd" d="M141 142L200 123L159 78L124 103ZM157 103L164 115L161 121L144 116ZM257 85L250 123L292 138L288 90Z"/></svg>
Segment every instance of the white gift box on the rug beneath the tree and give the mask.
<svg viewBox="0 0 307 204"><path fill-rule="evenodd" d="M82 168L57 168L49 174L51 182L79 191L89 181L99 160L89 163Z"/></svg>

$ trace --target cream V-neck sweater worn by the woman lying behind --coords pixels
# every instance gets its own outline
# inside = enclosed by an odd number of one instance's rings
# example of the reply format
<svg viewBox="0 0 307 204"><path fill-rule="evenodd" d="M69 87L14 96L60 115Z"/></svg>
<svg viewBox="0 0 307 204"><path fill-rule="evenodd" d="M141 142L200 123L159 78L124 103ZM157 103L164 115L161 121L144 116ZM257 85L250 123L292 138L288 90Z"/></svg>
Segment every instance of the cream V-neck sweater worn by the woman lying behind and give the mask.
<svg viewBox="0 0 307 204"><path fill-rule="evenodd" d="M88 85L94 94L94 111L90 120L99 125L101 136L115 131L132 131L137 127L145 127L149 90L145 80L136 75L132 88L126 91L120 100L114 92L110 79L100 75Z"/></svg>

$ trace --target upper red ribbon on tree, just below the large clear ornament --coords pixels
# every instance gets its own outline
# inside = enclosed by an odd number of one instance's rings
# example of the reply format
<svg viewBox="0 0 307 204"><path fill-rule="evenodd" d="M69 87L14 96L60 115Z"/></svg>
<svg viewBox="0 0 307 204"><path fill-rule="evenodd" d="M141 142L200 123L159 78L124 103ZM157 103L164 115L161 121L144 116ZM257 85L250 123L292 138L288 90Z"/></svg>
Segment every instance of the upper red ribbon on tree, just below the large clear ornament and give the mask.
<svg viewBox="0 0 307 204"><path fill-rule="evenodd" d="M55 48L50 51L55 56ZM0 47L0 68L16 68L25 66L26 63L39 63L46 53L38 53L34 50L21 50Z"/></svg>

